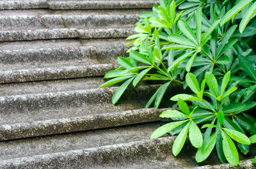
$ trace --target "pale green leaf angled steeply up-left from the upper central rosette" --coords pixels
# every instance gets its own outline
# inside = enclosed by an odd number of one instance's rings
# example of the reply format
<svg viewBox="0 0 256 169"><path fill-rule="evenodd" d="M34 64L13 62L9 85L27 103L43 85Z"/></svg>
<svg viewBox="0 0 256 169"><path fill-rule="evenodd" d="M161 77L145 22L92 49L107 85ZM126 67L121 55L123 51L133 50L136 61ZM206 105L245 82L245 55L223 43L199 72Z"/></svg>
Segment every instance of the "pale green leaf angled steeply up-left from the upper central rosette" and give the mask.
<svg viewBox="0 0 256 169"><path fill-rule="evenodd" d="M198 43L196 40L196 35L195 33L193 33L191 27L189 27L188 23L185 20L179 20L178 22L178 26L180 31L191 41L193 41L193 43L196 45L196 47L198 47Z"/></svg>

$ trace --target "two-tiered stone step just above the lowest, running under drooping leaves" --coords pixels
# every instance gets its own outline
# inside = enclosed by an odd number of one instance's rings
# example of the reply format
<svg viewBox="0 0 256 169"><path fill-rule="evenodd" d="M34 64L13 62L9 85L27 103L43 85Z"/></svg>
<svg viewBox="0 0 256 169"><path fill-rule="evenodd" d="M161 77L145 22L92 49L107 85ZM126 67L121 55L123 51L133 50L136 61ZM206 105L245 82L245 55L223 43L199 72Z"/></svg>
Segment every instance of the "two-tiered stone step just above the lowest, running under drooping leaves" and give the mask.
<svg viewBox="0 0 256 169"><path fill-rule="evenodd" d="M0 140L159 120L163 109L143 109L159 85L128 89L113 105L117 87L94 89L103 82L99 77L1 85ZM179 88L173 84L168 96Z"/></svg>

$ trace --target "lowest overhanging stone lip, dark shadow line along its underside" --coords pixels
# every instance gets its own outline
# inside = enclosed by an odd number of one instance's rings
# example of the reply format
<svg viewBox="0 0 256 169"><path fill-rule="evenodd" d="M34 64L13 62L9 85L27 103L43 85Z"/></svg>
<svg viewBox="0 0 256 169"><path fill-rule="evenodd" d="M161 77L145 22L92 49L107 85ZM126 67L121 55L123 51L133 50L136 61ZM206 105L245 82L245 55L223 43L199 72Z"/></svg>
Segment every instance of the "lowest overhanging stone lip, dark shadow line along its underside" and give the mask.
<svg viewBox="0 0 256 169"><path fill-rule="evenodd" d="M67 119L24 122L0 126L0 140L12 140L32 136L55 135L89 129L110 128L142 122L159 121L159 114L165 109L140 109L113 112ZM72 112L70 112L72 113Z"/></svg>

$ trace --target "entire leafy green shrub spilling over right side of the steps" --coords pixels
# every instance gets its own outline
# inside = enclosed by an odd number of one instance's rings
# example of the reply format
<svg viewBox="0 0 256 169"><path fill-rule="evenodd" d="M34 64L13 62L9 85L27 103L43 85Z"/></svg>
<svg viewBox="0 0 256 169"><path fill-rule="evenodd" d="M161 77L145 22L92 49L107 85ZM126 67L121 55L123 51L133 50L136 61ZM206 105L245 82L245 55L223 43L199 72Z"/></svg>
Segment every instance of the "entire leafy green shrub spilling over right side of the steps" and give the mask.
<svg viewBox="0 0 256 169"><path fill-rule="evenodd" d="M140 15L133 34L129 57L118 57L119 68L106 73L113 78L100 87L118 82L115 104L125 89L143 80L165 82L150 98L158 108L172 82L189 87L194 94L178 94L180 111L167 110L160 117L171 118L152 134L179 133L173 154L177 156L189 133L198 148L196 161L204 161L216 145L221 162L237 165L236 145L243 154L256 142L256 55L252 44L256 34L256 2L253 0L160 0L152 12ZM254 38L253 38L254 37ZM200 85L199 85L200 84ZM185 101L190 101L189 109ZM248 112L249 111L249 112ZM254 110L255 111L255 110ZM204 136L198 124L205 130ZM253 135L250 139L246 135ZM232 138L232 139L231 139ZM181 143L181 144L180 144Z"/></svg>

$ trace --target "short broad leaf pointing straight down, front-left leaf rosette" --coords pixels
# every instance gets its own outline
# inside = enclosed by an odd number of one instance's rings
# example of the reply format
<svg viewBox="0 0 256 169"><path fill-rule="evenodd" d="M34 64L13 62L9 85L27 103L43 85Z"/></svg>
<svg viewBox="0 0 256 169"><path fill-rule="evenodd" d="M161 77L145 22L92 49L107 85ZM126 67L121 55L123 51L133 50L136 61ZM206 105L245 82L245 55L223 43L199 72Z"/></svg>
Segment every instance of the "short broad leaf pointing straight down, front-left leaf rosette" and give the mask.
<svg viewBox="0 0 256 169"><path fill-rule="evenodd" d="M202 133L198 126L196 126L195 122L193 121L190 122L189 126L189 140L191 144L196 148L201 147L203 144Z"/></svg>

